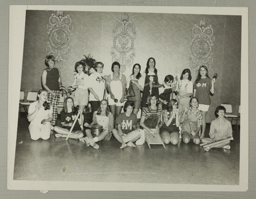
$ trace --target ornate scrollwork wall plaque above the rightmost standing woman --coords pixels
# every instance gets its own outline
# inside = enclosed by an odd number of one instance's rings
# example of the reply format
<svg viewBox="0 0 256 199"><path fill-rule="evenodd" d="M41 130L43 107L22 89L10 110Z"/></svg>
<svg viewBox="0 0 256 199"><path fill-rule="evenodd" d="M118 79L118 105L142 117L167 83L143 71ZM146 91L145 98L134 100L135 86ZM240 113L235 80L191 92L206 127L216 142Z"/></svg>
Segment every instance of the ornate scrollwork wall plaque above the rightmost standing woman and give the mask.
<svg viewBox="0 0 256 199"><path fill-rule="evenodd" d="M212 27L207 26L207 20L200 20L199 26L195 24L190 40L190 68L196 74L202 65L209 70L213 62L211 55L215 37L213 36Z"/></svg>

